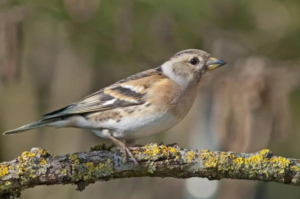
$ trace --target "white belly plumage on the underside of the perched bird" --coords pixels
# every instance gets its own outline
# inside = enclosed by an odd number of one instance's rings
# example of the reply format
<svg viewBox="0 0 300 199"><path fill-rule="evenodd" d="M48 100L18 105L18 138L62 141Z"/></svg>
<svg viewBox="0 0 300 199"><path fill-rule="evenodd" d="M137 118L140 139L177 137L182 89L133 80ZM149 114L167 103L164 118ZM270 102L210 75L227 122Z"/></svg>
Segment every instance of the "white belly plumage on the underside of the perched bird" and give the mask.
<svg viewBox="0 0 300 199"><path fill-rule="evenodd" d="M112 136L117 139L138 139L152 136L176 125L181 119L174 117L170 113L162 115L146 115L146 117L124 117L121 121L116 122L110 119L102 124L103 128L114 129L111 131ZM90 129L96 135L106 138L102 130Z"/></svg>

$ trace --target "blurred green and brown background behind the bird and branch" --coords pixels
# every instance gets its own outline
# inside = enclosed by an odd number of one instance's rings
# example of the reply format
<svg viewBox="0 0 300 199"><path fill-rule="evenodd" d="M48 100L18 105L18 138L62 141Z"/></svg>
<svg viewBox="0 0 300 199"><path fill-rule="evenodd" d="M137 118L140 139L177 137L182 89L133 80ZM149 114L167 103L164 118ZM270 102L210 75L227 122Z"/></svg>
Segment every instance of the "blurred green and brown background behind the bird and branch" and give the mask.
<svg viewBox="0 0 300 199"><path fill-rule="evenodd" d="M0 0L0 131L35 121L121 78L198 48L214 70L188 115L157 136L181 147L300 158L300 1ZM106 142L87 130L0 135L0 161ZM21 198L299 198L295 186L247 180L127 178L38 186Z"/></svg>

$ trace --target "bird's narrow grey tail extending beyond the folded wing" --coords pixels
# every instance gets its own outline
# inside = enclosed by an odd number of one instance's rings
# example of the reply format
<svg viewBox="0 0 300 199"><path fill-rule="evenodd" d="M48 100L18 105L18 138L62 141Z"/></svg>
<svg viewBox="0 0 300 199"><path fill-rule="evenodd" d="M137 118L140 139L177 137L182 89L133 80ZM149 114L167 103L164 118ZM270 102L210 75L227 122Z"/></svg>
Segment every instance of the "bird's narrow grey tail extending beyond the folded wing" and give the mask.
<svg viewBox="0 0 300 199"><path fill-rule="evenodd" d="M36 122L29 123L29 124L23 125L21 127L15 128L13 130L8 130L8 131L4 132L3 134L15 134L15 133L23 132L23 131L30 130L33 128L39 128L42 126L50 126L51 123L53 123L57 120L59 120L59 119L58 118L41 119Z"/></svg>

